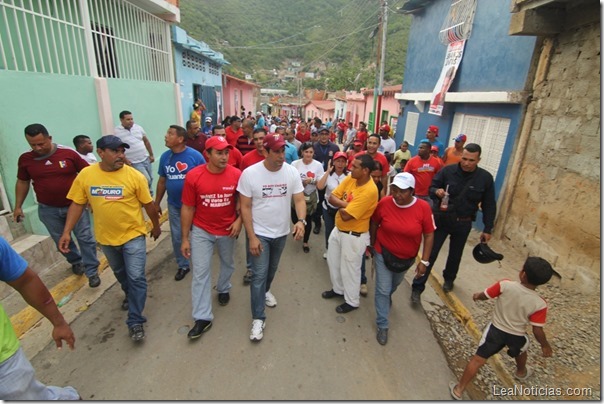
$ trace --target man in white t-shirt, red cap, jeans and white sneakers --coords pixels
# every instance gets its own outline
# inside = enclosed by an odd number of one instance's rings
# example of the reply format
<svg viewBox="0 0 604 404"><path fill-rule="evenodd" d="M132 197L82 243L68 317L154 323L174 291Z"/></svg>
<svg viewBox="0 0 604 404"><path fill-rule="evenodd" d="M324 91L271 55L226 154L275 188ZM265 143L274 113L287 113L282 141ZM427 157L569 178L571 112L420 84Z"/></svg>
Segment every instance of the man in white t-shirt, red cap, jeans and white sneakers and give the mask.
<svg viewBox="0 0 604 404"><path fill-rule="evenodd" d="M285 164L285 140L279 134L264 138L266 158L241 173L237 191L241 200L241 218L249 237L252 254L252 331L250 340L260 341L266 320L264 305L277 305L270 292L279 267L279 259L290 232L291 202L296 215L306 217L304 187L298 170ZM305 219L294 224L293 236L304 236Z"/></svg>

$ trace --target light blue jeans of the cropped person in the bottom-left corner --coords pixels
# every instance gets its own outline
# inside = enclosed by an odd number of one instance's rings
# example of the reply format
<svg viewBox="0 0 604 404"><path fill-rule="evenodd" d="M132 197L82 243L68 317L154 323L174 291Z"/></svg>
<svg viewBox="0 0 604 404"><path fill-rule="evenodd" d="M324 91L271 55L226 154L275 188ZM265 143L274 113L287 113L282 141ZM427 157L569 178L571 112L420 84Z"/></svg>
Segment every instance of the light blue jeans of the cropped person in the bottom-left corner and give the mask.
<svg viewBox="0 0 604 404"><path fill-rule="evenodd" d="M45 386L36 379L36 371L23 353L17 349L0 363L0 397L3 400L79 400L80 395L71 386Z"/></svg>

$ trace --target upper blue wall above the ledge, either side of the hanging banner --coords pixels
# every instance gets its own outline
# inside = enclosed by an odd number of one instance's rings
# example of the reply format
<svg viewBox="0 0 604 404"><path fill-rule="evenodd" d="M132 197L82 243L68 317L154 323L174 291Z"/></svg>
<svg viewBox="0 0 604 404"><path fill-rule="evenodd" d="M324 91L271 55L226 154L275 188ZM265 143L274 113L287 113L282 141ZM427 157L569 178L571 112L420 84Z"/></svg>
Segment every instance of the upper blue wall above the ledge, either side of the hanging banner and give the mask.
<svg viewBox="0 0 604 404"><path fill-rule="evenodd" d="M447 47L438 39L451 2L436 0L413 15L403 92L432 92ZM520 91L525 87L536 39L509 36L510 1L478 0L472 34L449 89L455 91ZM527 57L529 55L529 57Z"/></svg>

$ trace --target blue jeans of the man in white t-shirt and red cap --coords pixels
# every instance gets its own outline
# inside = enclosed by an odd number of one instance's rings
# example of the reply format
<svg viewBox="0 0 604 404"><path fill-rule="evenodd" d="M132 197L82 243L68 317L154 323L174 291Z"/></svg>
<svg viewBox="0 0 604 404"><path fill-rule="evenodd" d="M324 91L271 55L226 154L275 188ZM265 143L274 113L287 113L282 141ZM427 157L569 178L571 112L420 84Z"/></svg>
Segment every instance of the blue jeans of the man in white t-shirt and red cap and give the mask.
<svg viewBox="0 0 604 404"><path fill-rule="evenodd" d="M262 244L262 252L259 256L252 255L252 282L250 284L252 318L264 320L266 319L264 295L271 289L287 236L269 238L256 235L256 237Z"/></svg>

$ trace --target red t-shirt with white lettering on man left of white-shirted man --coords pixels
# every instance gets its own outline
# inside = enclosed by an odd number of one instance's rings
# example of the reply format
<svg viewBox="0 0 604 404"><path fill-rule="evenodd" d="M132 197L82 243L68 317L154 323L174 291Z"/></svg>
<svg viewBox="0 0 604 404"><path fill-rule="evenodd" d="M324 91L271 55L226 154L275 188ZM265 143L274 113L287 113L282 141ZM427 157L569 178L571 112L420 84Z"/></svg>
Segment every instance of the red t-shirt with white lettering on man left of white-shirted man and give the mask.
<svg viewBox="0 0 604 404"><path fill-rule="evenodd" d="M208 171L207 164L187 173L182 203L195 207L193 224L210 234L226 236L227 228L237 219L237 183L241 171L227 165L220 174Z"/></svg>

